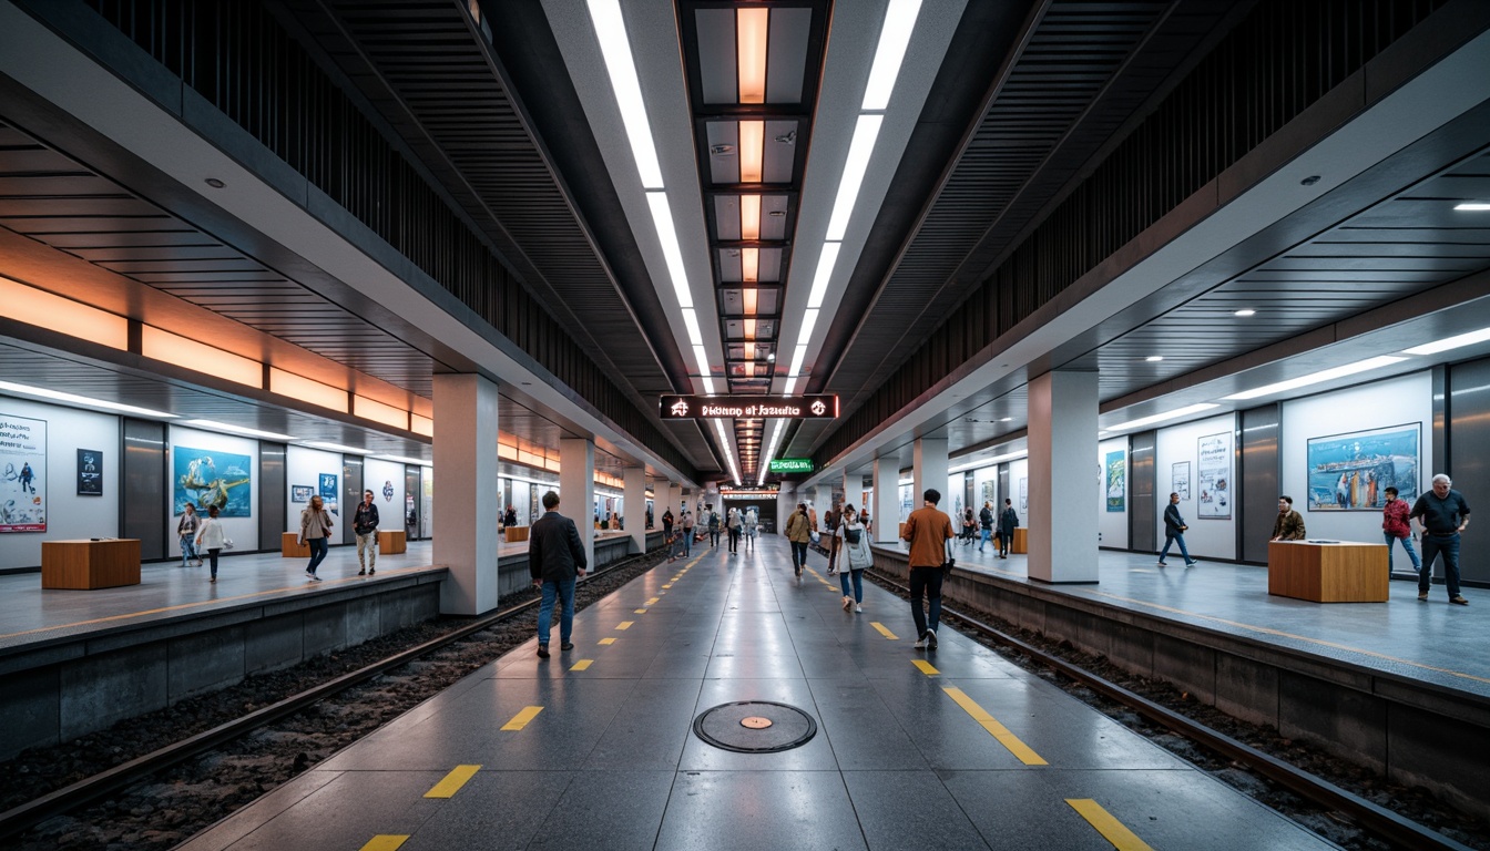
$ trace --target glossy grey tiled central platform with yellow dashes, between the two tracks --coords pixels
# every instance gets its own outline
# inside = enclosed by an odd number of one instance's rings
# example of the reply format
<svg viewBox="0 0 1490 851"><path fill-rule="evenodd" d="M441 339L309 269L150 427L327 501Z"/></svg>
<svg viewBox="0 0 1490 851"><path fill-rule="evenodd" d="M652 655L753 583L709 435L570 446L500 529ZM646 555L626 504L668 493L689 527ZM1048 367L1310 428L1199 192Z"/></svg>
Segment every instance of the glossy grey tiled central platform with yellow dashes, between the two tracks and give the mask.
<svg viewBox="0 0 1490 851"><path fill-rule="evenodd" d="M907 604L843 611L811 566L779 537L662 565L572 651L529 641L182 848L1332 847L951 629L915 650ZM745 700L815 735L694 733Z"/></svg>

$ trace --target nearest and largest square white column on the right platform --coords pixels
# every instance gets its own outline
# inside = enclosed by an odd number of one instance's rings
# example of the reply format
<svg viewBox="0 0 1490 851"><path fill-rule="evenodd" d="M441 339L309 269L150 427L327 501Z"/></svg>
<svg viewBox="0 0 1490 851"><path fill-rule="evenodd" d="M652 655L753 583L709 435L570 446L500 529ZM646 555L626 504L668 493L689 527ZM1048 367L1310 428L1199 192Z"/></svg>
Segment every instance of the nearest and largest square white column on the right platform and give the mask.
<svg viewBox="0 0 1490 851"><path fill-rule="evenodd" d="M1097 373L1030 382L1030 578L1097 581Z"/></svg>

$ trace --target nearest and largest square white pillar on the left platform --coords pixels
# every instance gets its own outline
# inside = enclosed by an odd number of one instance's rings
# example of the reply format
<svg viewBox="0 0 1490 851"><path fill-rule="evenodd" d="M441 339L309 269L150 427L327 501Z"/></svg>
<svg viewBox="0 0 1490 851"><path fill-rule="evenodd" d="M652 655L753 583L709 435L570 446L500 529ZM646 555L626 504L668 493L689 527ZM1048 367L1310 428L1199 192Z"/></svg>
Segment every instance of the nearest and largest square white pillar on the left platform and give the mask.
<svg viewBox="0 0 1490 851"><path fill-rule="evenodd" d="M502 489L496 468L496 383L481 376L435 376L434 560L450 575L440 586L443 614L496 608Z"/></svg>

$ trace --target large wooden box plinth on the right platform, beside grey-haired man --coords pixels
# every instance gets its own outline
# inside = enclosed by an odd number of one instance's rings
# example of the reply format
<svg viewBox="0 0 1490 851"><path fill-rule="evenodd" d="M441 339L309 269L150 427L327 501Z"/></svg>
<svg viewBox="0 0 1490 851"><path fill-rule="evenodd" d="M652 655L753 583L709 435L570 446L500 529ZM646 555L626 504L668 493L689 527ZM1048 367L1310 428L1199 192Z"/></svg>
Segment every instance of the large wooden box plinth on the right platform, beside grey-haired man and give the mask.
<svg viewBox="0 0 1490 851"><path fill-rule="evenodd" d="M1271 541L1268 593L1313 602L1387 602L1387 547L1357 541Z"/></svg>

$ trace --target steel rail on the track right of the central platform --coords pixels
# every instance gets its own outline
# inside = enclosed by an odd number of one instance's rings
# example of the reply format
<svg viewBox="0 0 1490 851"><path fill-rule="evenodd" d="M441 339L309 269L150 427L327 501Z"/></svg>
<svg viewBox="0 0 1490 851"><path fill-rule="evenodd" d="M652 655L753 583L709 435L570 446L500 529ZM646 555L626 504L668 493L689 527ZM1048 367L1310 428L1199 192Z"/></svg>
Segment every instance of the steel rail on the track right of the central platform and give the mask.
<svg viewBox="0 0 1490 851"><path fill-rule="evenodd" d="M878 571L866 571L879 583L898 589L900 592L910 593L910 589L900 584L895 577L887 577ZM1445 851L1472 851L1468 845L1456 842L1442 833L1430 827L1424 827L1411 818L1405 818L1372 803L1348 790L1344 790L1328 779L1316 776L1298 766L1289 765L1271 754L1259 751L1246 742L1240 742L1219 730L1213 730L1205 724L1182 715L1174 709L1162 706L1141 695L1129 692L1116 683L1110 683L1085 668L1071 665L1058 656L1052 656L1039 647L1027 644L1006 632L994 629L986 623L957 611L955 608L942 605L942 614L951 614L957 620L968 624L977 632L991 638L995 644L1010 647L1030 656L1040 665L1052 668L1065 677L1086 686L1092 692L1115 700L1144 718L1155 721L1168 730L1179 733L1193 742L1198 742L1220 756L1238 762L1262 776L1277 782L1278 785L1287 788L1289 791L1302 796L1314 803L1328 806L1331 809L1338 809L1345 815L1354 818L1362 827L1371 830L1377 836L1387 839L1402 848L1442 848Z"/></svg>

